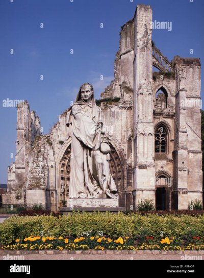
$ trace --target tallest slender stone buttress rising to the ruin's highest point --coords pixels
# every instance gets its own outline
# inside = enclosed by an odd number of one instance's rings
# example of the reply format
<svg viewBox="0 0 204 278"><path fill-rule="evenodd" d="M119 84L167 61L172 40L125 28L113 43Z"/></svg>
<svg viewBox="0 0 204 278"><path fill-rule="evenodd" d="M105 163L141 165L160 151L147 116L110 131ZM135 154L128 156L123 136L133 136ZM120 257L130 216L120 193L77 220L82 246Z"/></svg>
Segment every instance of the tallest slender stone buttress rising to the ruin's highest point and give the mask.
<svg viewBox="0 0 204 278"><path fill-rule="evenodd" d="M152 92L152 10L139 5L134 16L134 138L133 179L136 200L155 199L155 149Z"/></svg>

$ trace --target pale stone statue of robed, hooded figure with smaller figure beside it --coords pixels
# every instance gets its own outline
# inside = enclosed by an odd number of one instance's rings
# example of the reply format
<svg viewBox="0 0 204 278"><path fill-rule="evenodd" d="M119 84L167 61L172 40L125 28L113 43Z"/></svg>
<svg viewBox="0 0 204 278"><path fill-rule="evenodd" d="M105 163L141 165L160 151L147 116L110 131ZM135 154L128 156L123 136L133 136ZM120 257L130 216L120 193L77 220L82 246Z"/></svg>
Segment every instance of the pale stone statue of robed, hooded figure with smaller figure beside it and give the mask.
<svg viewBox="0 0 204 278"><path fill-rule="evenodd" d="M109 169L111 149L91 84L81 86L68 113L67 127L72 137L69 198L117 199L117 188Z"/></svg>

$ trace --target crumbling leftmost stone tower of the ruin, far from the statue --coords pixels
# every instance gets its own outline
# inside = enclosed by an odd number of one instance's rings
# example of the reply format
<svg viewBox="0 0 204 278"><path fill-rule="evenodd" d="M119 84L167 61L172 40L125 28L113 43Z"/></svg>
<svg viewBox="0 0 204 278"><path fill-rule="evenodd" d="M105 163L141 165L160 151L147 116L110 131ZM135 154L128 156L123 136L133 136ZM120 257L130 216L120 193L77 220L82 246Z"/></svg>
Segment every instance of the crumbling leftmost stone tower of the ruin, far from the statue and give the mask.
<svg viewBox="0 0 204 278"><path fill-rule="evenodd" d="M15 163L8 167L8 194L14 191L12 203L23 201L23 189L25 188L26 177L29 172L28 157L31 151L31 145L36 136L40 135L40 119L35 111L30 111L30 106L25 100L17 106L17 138L16 138L16 156ZM14 198L17 192L17 199ZM8 199L8 196L3 196Z"/></svg>

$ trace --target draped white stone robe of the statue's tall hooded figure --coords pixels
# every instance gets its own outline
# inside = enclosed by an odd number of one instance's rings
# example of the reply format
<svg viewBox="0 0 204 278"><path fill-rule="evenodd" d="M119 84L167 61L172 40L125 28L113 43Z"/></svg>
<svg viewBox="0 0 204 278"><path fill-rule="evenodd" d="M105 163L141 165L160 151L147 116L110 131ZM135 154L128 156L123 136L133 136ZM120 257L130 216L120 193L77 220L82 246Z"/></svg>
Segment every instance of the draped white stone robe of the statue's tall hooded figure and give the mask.
<svg viewBox="0 0 204 278"><path fill-rule="evenodd" d="M96 111L94 111L96 110ZM94 113L93 113L94 112ZM92 102L74 104L72 109L72 156L69 184L70 198L94 198L103 193L103 159L99 151L101 134L97 122L100 110ZM102 176L101 176L102 175Z"/></svg>

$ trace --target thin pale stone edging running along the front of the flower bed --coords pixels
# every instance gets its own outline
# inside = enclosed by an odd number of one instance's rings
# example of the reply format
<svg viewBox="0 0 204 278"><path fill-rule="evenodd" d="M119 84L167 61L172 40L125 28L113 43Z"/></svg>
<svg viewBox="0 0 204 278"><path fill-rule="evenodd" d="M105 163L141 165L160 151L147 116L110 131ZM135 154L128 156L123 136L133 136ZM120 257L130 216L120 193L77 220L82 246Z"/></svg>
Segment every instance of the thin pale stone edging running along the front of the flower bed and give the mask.
<svg viewBox="0 0 204 278"><path fill-rule="evenodd" d="M154 254L154 255L204 255L204 250L1 250L0 255L29 255L29 254L39 254L39 255L54 255L54 254L75 254L75 255L131 255L131 254Z"/></svg>

